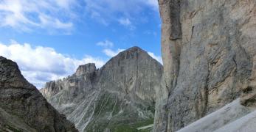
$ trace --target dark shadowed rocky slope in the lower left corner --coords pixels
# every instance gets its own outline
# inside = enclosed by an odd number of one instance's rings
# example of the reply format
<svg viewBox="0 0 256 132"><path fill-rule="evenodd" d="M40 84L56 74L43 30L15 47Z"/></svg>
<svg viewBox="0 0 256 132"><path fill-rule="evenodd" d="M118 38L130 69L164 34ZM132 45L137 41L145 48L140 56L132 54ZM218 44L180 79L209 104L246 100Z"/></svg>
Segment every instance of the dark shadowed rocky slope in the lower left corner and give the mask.
<svg viewBox="0 0 256 132"><path fill-rule="evenodd" d="M0 56L0 131L77 131L18 70Z"/></svg>

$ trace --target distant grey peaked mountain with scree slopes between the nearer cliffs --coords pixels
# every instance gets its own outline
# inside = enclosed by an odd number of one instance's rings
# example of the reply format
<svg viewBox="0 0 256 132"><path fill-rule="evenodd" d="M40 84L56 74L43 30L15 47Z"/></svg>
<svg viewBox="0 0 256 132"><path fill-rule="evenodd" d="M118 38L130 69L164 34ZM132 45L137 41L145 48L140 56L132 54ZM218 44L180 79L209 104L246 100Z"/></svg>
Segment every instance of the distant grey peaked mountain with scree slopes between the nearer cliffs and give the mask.
<svg viewBox="0 0 256 132"><path fill-rule="evenodd" d="M161 78L162 65L133 47L100 69L82 65L41 92L79 131L149 131Z"/></svg>

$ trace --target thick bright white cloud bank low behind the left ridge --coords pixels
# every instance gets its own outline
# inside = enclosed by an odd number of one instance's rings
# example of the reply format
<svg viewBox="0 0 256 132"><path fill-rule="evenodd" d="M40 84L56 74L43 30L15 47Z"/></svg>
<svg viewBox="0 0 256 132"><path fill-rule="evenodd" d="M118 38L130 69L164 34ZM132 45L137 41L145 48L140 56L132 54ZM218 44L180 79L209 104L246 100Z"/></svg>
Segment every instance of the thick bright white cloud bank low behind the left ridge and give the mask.
<svg viewBox="0 0 256 132"><path fill-rule="evenodd" d="M83 59L75 59L55 51L54 48L19 44L12 41L11 44L0 43L0 56L7 57L17 62L21 73L36 87L41 88L46 81L63 78L75 73L78 65L95 63L97 67L105 64L103 59L84 56Z"/></svg>

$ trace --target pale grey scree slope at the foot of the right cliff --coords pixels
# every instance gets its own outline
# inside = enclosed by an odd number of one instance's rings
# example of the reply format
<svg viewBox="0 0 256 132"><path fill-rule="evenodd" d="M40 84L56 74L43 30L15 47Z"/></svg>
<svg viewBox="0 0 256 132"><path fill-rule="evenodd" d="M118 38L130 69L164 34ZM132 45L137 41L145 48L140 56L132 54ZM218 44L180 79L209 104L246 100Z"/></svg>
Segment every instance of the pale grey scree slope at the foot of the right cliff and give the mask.
<svg viewBox="0 0 256 132"><path fill-rule="evenodd" d="M254 132L255 130L255 109L242 106L238 98L177 132Z"/></svg>

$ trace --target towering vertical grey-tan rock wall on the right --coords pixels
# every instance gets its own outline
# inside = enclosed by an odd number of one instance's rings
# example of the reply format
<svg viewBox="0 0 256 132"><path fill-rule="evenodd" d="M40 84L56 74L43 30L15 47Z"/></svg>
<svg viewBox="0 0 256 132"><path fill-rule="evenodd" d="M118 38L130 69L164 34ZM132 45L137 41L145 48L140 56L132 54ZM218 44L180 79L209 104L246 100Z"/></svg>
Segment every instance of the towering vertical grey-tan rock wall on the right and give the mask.
<svg viewBox="0 0 256 132"><path fill-rule="evenodd" d="M177 131L232 100L255 106L256 1L159 0L164 76L154 131Z"/></svg>

